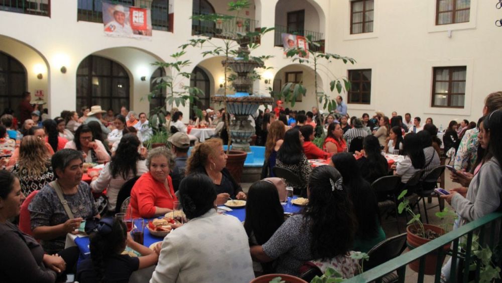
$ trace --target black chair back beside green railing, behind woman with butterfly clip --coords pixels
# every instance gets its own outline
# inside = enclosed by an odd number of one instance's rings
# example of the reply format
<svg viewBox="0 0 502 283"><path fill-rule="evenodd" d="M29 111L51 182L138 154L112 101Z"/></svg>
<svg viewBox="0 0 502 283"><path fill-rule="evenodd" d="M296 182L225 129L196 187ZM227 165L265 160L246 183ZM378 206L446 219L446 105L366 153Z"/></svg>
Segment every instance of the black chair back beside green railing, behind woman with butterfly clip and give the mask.
<svg viewBox="0 0 502 283"><path fill-rule="evenodd" d="M391 237L380 242L368 251L369 260L363 264L364 270L367 271L375 266L387 262L399 256L406 248L406 233Z"/></svg>

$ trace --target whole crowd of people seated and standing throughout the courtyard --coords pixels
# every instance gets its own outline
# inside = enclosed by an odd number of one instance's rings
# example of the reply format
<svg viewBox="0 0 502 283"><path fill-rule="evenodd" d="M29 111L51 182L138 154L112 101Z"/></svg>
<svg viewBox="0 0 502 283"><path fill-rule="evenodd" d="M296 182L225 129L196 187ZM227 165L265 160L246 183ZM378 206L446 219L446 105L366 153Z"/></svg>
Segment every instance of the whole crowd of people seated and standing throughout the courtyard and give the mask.
<svg viewBox="0 0 502 283"><path fill-rule="evenodd" d="M341 97L327 114L315 107L290 111L279 102L254 119L265 164L262 180L247 193L226 168L224 124L231 117L224 109L207 109L193 119L195 125L220 127L216 136L195 144L183 114L172 111L170 126L176 131L166 141L169 148L147 151L143 143L152 133L145 113L123 107L115 115L93 106L81 115L63 111L44 119L29 102L27 96L19 120L0 117L0 258L5 263L0 281L55 282L66 273L80 282L128 281L136 270L153 266L150 282L248 282L256 274L299 276L308 261L335 262L343 266L338 271L344 277L351 277L359 269L350 254L386 239L378 202L387 196L376 195L371 183L394 174L401 177L402 190L417 171L432 172L446 153L456 168L452 180L462 186L443 198L460 216L460 225L500 207L502 92L486 97L478 123L451 121L444 133L431 118L422 125L409 113L404 120L396 112L390 118L381 112L350 117ZM389 166L385 154L404 159ZM329 160L329 165L313 167L309 159ZM87 162L104 163L99 173L89 172L90 183L82 181ZM272 181L274 167L298 175L300 183L286 185L308 198L299 214L285 218ZM121 188L134 178L132 217L164 216L180 202L189 220L153 250L136 243L113 218L122 205ZM106 207L98 210L95 197L104 190ZM215 207L228 200L247 201L244 225L217 213ZM77 264L80 252L67 247L67 234L92 221L98 224L90 235L90 257ZM121 254L127 246L142 256Z"/></svg>

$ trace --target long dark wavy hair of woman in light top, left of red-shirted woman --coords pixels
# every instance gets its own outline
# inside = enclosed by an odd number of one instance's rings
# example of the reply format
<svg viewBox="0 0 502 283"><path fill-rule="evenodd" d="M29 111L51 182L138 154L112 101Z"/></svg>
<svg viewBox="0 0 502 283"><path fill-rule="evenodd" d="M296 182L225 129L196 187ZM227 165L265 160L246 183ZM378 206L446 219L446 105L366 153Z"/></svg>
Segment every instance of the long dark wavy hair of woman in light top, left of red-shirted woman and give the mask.
<svg viewBox="0 0 502 283"><path fill-rule="evenodd" d="M140 140L135 134L122 136L115 155L111 157L110 161L111 176L113 178L121 175L123 179L127 179L131 171L136 176L138 173L136 162L141 159L141 155L138 153L140 144Z"/></svg>

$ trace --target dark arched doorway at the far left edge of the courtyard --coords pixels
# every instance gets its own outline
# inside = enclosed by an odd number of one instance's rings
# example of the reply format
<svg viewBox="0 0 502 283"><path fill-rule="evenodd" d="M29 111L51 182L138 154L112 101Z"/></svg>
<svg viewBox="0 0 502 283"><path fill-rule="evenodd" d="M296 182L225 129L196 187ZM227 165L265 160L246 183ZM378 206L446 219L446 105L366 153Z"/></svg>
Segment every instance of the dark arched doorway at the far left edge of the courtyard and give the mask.
<svg viewBox="0 0 502 283"><path fill-rule="evenodd" d="M0 113L7 108L19 117L21 96L26 91L26 69L16 58L0 52Z"/></svg>

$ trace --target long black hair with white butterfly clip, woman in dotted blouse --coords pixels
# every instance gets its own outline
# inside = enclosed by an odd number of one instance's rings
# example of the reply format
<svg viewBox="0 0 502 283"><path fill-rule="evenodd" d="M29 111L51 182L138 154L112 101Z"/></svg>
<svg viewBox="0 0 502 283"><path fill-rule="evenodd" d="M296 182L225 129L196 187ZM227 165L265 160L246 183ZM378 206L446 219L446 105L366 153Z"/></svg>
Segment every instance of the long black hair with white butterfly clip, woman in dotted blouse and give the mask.
<svg viewBox="0 0 502 283"><path fill-rule="evenodd" d="M357 222L340 173L331 166L319 166L309 176L309 202L303 212L310 227L314 258L345 255L352 248Z"/></svg>

